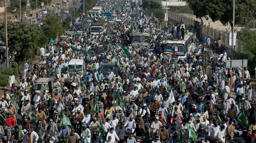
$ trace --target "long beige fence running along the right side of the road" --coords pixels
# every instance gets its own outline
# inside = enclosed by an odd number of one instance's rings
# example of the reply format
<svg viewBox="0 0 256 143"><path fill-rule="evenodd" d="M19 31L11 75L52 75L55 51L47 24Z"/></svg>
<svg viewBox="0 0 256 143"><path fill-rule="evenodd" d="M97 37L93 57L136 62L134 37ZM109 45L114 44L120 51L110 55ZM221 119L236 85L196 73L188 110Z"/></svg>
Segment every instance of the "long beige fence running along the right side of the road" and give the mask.
<svg viewBox="0 0 256 143"><path fill-rule="evenodd" d="M177 22L183 21L186 25L192 25L193 27L195 26L195 23L196 23L194 19L191 19L181 14L173 13L170 11L168 11L168 18L173 19ZM223 44L226 47L232 48L229 45L229 35L222 33L217 29L213 29L212 27L204 24L200 26L200 34L206 35L215 40L218 40L220 38L221 44ZM241 44L241 42L239 40L236 40L236 45L234 46L233 50L237 52L241 52L242 47L243 45Z"/></svg>

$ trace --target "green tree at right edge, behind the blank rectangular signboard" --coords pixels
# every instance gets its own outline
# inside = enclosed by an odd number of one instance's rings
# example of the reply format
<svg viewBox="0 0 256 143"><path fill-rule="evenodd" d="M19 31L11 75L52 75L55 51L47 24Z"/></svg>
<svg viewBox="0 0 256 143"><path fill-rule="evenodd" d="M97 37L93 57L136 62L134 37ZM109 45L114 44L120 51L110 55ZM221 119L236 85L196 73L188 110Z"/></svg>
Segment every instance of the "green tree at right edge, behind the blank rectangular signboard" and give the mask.
<svg viewBox="0 0 256 143"><path fill-rule="evenodd" d="M248 59L248 70L253 72L256 65L256 30L241 29L237 33L237 39L241 41L243 50L241 53L233 51L233 57L235 59Z"/></svg>

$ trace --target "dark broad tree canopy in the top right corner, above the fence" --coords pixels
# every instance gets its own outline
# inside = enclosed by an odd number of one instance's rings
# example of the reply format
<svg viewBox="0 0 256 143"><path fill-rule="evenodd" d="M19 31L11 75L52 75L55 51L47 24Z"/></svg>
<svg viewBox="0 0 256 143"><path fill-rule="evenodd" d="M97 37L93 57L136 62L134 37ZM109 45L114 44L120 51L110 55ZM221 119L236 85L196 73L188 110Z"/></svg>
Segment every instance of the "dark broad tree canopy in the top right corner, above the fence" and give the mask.
<svg viewBox="0 0 256 143"><path fill-rule="evenodd" d="M226 25L233 15L233 0L187 0L197 18L209 17L212 21L220 20ZM254 19L256 2L254 0L235 1L235 24L246 24Z"/></svg>

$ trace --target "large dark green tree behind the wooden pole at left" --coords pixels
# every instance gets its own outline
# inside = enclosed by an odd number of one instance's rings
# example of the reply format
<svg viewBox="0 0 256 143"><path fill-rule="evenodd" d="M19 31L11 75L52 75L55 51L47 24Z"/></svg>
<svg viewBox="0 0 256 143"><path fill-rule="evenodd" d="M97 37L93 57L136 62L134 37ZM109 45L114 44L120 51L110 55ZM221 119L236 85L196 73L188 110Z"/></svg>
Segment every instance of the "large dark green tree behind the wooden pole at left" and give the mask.
<svg viewBox="0 0 256 143"><path fill-rule="evenodd" d="M34 57L37 47L45 44L43 31L33 24L10 22L8 23L8 45L14 46L18 56L17 61ZM0 26L0 39L5 41L4 24Z"/></svg>

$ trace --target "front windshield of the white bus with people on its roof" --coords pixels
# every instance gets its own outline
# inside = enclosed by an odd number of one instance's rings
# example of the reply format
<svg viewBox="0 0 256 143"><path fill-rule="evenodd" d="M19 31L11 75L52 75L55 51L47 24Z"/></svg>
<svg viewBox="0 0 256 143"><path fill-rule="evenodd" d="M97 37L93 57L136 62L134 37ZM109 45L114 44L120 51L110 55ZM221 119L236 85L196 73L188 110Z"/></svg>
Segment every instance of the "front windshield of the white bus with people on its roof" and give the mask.
<svg viewBox="0 0 256 143"><path fill-rule="evenodd" d="M174 44L174 43L165 44L164 52L172 53L172 55L184 56L186 52L185 44Z"/></svg>

